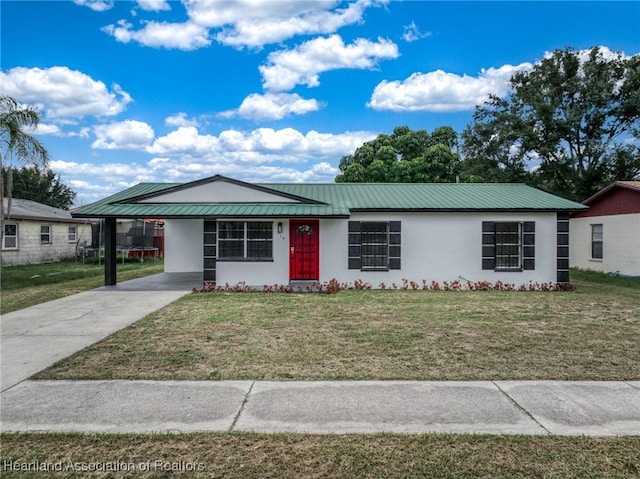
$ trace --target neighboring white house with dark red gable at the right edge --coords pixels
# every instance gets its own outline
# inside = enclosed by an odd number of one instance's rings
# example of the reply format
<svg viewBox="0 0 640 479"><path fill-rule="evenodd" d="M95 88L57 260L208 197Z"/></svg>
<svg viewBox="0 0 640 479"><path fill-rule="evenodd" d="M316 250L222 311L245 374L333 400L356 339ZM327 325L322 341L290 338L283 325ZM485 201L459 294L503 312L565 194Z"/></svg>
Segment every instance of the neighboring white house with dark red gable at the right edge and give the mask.
<svg viewBox="0 0 640 479"><path fill-rule="evenodd" d="M571 266L640 276L640 181L616 181L571 217Z"/></svg>

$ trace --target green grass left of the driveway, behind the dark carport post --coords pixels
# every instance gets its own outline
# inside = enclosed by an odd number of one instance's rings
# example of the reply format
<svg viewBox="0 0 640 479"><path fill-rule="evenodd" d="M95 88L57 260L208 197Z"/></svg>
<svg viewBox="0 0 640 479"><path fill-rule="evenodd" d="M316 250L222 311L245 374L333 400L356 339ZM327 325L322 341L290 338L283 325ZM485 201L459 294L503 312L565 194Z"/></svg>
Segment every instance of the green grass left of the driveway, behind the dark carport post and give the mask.
<svg viewBox="0 0 640 479"><path fill-rule="evenodd" d="M118 281L139 278L164 270L162 260L118 260ZM104 285L104 265L95 260L78 264L75 260L57 263L5 266L2 270L2 304L0 313L62 298Z"/></svg>

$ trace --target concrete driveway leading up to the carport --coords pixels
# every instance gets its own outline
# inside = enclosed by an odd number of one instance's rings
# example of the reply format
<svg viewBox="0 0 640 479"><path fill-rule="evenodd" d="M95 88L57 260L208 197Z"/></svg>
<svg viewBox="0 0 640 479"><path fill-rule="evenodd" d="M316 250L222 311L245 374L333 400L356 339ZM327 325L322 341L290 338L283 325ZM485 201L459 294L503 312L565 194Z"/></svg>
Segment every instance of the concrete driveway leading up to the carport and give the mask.
<svg viewBox="0 0 640 479"><path fill-rule="evenodd" d="M0 391L201 285L201 275L162 273L2 315Z"/></svg>

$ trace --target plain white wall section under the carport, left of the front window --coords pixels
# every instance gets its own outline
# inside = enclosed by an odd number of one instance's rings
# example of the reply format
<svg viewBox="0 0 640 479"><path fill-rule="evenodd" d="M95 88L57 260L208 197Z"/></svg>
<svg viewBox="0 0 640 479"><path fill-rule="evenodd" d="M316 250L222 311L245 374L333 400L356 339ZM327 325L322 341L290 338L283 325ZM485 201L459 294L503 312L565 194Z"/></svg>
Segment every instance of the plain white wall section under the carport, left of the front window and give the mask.
<svg viewBox="0 0 640 479"><path fill-rule="evenodd" d="M168 219L164 222L164 270L193 273L203 268L203 227L201 219Z"/></svg>

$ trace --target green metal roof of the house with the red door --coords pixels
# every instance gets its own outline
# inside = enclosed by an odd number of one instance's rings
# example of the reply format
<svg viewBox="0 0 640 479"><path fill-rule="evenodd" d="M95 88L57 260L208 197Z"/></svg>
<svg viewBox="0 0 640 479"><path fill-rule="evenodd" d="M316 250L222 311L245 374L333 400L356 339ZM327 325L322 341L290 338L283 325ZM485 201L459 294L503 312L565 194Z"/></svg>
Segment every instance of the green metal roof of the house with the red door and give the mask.
<svg viewBox="0 0 640 479"><path fill-rule="evenodd" d="M153 203L153 195L187 184L141 183L73 212L75 217L347 217L353 211L579 211L584 205L523 184L261 183L246 187L308 198L309 203ZM205 181L206 182L206 181ZM195 183L195 182L194 182ZM197 182L199 185L203 180ZM147 202L139 203L140 197ZM151 199L149 199L151 198ZM318 204L321 203L321 204Z"/></svg>

